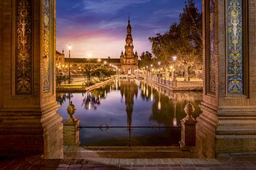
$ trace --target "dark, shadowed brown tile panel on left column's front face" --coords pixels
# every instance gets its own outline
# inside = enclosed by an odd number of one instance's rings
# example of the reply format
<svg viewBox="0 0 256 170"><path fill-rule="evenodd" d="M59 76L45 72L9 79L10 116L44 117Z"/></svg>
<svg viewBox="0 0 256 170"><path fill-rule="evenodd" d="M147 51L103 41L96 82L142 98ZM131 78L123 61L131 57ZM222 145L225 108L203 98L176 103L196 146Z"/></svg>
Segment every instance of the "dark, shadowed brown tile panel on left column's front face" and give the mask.
<svg viewBox="0 0 256 170"><path fill-rule="evenodd" d="M32 94L31 0L16 1L16 94Z"/></svg>

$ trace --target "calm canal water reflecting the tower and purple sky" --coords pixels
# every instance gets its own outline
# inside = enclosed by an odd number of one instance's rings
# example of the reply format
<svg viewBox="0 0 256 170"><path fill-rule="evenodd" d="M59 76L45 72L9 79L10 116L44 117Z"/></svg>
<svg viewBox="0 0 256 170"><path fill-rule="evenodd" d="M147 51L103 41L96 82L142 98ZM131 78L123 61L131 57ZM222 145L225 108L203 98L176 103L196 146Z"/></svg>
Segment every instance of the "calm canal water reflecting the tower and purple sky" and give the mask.
<svg viewBox="0 0 256 170"><path fill-rule="evenodd" d="M87 93L57 94L63 122L68 104L72 101L76 106L74 116L85 127L80 128L80 144L87 146L178 145L186 103L191 101L196 118L201 100L201 92L174 93L137 79L114 80Z"/></svg>

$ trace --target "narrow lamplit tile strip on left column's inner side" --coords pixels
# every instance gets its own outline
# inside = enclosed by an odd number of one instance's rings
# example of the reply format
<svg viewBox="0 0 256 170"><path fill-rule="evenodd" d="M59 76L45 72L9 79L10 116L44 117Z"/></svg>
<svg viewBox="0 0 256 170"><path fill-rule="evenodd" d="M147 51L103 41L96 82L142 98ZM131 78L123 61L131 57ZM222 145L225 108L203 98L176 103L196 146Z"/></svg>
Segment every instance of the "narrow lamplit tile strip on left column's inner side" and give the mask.
<svg viewBox="0 0 256 170"><path fill-rule="evenodd" d="M50 0L43 1L43 93L50 92Z"/></svg>

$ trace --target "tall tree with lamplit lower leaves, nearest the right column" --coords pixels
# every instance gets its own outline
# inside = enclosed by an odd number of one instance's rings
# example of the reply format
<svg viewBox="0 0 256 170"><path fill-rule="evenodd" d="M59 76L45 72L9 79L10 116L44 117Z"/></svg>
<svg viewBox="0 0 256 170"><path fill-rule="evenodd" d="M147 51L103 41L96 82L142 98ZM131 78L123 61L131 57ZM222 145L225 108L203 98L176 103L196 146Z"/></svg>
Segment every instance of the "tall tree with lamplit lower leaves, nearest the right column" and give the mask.
<svg viewBox="0 0 256 170"><path fill-rule="evenodd" d="M188 0L183 13L179 16L181 40L186 45L178 51L185 70L185 79L188 80L188 72L191 68L201 66L202 56L202 13L198 11L193 0Z"/></svg>

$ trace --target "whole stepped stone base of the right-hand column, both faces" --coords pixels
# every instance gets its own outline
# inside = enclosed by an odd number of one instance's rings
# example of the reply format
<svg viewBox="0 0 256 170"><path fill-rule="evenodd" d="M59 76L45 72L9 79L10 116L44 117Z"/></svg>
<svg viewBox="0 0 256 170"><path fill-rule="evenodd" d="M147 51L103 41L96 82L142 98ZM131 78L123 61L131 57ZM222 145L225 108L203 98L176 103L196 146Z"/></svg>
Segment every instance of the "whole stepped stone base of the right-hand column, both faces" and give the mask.
<svg viewBox="0 0 256 170"><path fill-rule="evenodd" d="M200 158L218 154L256 152L256 116L254 112L216 111L201 103L196 119L196 152Z"/></svg>

